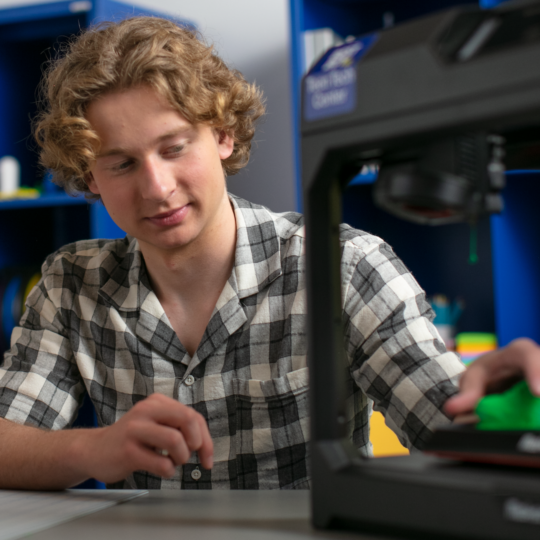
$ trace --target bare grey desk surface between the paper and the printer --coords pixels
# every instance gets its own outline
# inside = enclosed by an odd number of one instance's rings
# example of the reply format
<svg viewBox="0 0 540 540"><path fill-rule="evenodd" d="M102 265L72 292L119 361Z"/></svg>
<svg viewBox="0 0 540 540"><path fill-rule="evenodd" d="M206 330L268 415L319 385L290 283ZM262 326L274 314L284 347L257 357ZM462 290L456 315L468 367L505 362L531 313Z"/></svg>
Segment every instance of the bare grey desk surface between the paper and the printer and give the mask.
<svg viewBox="0 0 540 540"><path fill-rule="evenodd" d="M314 530L308 491L156 490L28 540L371 540Z"/></svg>

